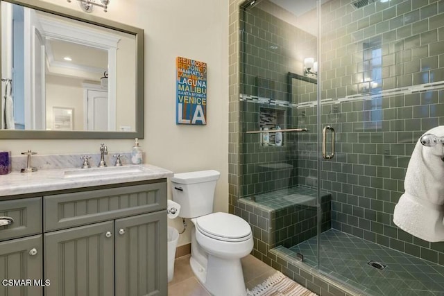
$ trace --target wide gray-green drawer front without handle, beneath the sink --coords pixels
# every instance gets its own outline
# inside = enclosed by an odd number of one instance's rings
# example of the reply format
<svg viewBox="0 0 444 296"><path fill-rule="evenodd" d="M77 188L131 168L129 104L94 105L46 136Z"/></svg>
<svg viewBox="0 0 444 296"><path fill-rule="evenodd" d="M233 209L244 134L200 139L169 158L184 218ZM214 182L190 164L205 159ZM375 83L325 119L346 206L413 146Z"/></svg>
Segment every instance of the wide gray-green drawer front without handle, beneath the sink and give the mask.
<svg viewBox="0 0 444 296"><path fill-rule="evenodd" d="M45 196L44 231L166 208L166 182Z"/></svg>

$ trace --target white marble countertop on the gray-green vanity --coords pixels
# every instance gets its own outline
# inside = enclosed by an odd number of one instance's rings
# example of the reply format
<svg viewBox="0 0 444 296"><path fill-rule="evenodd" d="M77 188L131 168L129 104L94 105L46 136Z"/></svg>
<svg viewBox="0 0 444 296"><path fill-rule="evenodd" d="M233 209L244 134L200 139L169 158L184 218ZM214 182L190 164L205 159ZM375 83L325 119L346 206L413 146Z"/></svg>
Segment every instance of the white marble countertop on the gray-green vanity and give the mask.
<svg viewBox="0 0 444 296"><path fill-rule="evenodd" d="M33 173L0 175L0 197L89 186L173 177L173 172L150 164L106 168L52 168Z"/></svg>

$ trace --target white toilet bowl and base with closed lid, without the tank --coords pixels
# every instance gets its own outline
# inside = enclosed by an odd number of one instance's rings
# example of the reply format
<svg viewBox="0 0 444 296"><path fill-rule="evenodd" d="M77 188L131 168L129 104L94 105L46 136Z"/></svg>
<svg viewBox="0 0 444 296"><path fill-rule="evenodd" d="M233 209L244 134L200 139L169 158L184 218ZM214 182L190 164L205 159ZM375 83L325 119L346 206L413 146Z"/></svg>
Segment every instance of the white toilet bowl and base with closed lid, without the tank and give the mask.
<svg viewBox="0 0 444 296"><path fill-rule="evenodd" d="M246 295L240 259L253 250L250 225L227 213L208 214L191 221L199 246L193 249L191 243L190 264L195 275L213 295Z"/></svg>

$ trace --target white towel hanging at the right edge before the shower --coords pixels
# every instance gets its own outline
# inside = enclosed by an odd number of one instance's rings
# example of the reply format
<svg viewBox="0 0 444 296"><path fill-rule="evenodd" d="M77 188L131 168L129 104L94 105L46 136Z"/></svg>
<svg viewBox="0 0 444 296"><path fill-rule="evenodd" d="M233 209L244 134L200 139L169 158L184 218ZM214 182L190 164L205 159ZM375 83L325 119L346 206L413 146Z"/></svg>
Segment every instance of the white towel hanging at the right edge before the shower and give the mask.
<svg viewBox="0 0 444 296"><path fill-rule="evenodd" d="M444 125L426 134L444 137ZM393 213L393 222L402 230L425 241L444 241L444 146L416 143L411 154L401 195Z"/></svg>

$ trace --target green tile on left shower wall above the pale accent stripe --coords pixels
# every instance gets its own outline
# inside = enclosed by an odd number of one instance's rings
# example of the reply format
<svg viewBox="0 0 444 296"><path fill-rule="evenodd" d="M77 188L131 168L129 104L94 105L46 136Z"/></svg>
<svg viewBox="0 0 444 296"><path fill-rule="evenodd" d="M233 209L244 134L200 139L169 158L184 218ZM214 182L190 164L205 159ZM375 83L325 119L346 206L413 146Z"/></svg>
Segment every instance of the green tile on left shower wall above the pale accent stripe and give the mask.
<svg viewBox="0 0 444 296"><path fill-rule="evenodd" d="M316 37L258 7L241 16L241 94L288 100L287 73L302 72L296 56L316 56ZM258 78L273 88L257 85Z"/></svg>

